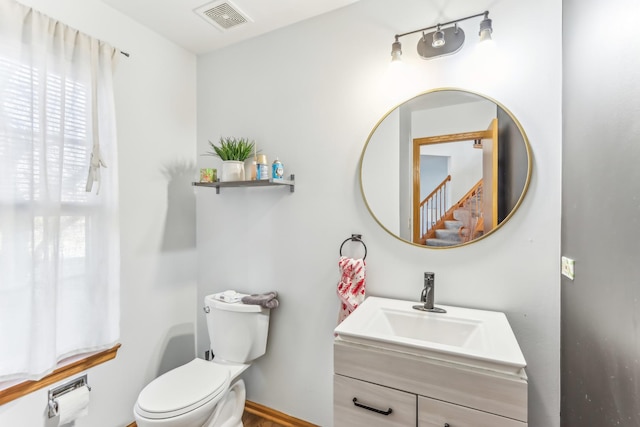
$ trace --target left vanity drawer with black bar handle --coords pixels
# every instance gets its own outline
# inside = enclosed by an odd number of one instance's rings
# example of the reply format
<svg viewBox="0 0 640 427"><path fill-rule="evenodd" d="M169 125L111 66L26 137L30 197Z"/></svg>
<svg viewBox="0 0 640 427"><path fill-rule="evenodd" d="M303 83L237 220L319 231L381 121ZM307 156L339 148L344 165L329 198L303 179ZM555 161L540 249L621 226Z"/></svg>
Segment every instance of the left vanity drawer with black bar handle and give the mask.
<svg viewBox="0 0 640 427"><path fill-rule="evenodd" d="M357 402L353 399L356 398ZM342 375L333 376L333 425L334 427L415 427L416 399L412 393L394 390ZM380 411L391 410L384 415L355 403Z"/></svg>

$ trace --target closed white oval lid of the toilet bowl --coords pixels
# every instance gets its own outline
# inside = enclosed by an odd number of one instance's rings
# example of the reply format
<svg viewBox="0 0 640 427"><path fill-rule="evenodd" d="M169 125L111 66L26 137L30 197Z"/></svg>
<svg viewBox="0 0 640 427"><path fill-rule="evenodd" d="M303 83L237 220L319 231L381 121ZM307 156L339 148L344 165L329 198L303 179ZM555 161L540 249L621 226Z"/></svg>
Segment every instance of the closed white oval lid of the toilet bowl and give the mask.
<svg viewBox="0 0 640 427"><path fill-rule="evenodd" d="M137 407L147 418L175 417L221 397L229 383L229 370L223 365L194 359L149 383Z"/></svg>

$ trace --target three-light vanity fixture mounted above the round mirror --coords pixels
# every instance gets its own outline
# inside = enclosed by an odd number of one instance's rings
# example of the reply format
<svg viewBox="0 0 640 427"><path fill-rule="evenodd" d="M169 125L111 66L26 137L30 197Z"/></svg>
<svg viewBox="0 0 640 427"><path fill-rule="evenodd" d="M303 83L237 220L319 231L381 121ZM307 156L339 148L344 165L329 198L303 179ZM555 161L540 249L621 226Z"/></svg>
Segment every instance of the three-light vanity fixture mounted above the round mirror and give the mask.
<svg viewBox="0 0 640 427"><path fill-rule="evenodd" d="M419 32L422 33L422 37L420 37L420 40L418 41L418 54L423 59L431 59L442 55L451 55L456 53L460 48L462 48L465 37L462 28L458 27L458 22L480 16L484 17L480 22L480 30L478 32L480 41L484 42L491 40L491 33L493 32L492 21L489 19L489 11L484 11L476 15L445 22L444 24L436 24L431 27L409 31L403 34L396 34L395 41L391 45L391 61L395 62L402 60L402 44L400 43L400 37ZM435 31L429 33L425 32L429 30Z"/></svg>

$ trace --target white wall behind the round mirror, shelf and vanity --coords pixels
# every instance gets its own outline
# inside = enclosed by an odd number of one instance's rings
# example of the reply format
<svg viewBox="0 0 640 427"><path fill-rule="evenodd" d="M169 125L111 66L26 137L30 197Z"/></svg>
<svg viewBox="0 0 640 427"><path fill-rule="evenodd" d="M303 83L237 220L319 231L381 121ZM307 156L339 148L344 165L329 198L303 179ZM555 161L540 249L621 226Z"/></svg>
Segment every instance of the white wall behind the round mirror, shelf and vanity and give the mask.
<svg viewBox="0 0 640 427"><path fill-rule="evenodd" d="M495 56L474 54L472 20L454 56L424 61L414 53L419 36L403 38L407 75L390 78L394 34L484 8ZM197 190L198 299L228 288L280 294L268 354L245 375L250 400L332 424L336 261L340 243L357 232L369 250L369 294L417 299L423 272L435 271L440 303L505 312L528 362L529 425L559 425L560 38L560 0L363 0L199 57L198 152L208 139L248 136L296 174L293 194ZM498 233L436 251L377 225L360 194L358 160L387 111L437 87L476 91L509 108L531 141L534 173L520 210ZM200 356L207 341L199 313Z"/></svg>

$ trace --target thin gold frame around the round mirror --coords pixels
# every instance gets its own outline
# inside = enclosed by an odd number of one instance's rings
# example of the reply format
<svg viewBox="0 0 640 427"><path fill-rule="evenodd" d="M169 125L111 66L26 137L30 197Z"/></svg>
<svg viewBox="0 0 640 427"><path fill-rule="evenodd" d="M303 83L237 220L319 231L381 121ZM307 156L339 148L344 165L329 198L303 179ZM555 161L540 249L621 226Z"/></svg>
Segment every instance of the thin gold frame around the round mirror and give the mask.
<svg viewBox="0 0 640 427"><path fill-rule="evenodd" d="M395 234L393 231L391 231L385 224L382 223L382 221L378 218L378 216L376 216L376 214L373 212L373 209L371 208L371 205L369 203L369 201L367 200L367 196L365 193L365 185L364 185L364 177L363 177L363 162L365 159L365 154L367 152L367 148L369 147L369 143L371 142L371 138L374 136L374 134L376 133L376 131L378 130L378 128L380 127L380 125L385 121L385 119L392 114L394 111L396 111L397 109L399 109L401 106L417 100L420 97L424 97L426 95L429 94L434 94L434 93L438 93L438 92L444 92L444 91L456 91L456 92L460 92L463 94L470 94L470 95L474 95L476 97L479 97L481 99L484 99L486 101L492 102L493 104L495 104L496 108L500 108L502 109L502 111L504 111L504 113L506 113L506 115L511 119L511 121L513 122L513 124L516 126L517 130L520 132L520 135L522 137L522 141L524 142L524 146L525 146L525 151L526 151L526 156L527 156L527 174L526 174L526 178L525 178L525 182L522 188L522 192L520 194L520 197L518 198L517 202L513 205L513 208L511 209L511 211L506 215L506 217L500 221L497 226L495 226L495 228L491 229L491 231L482 234L481 236L474 238L468 242L463 242L463 243L459 243L459 244L455 244L455 245L451 245L451 246L427 246L427 245L423 245L423 244L418 244L415 243L414 241L410 241L407 240L397 234ZM473 92L473 91L468 91L465 89L460 89L460 88L454 88L454 87L447 87L447 88L438 88L438 89L433 89L433 90L429 90L426 92L422 92L419 93L417 95L415 95L414 97L405 100L404 102L401 102L399 104L397 104L396 106L394 106L392 109L390 109L377 123L376 125L373 127L373 129L371 130L371 132L369 133L369 136L367 137L367 141L364 145L364 148L362 149L362 153L360 155L360 162L359 162L359 175L360 175L360 192L362 194L362 198L364 200L364 203L367 207L367 210L369 211L369 213L371 214L371 216L373 217L373 219L378 223L378 225L380 225L380 227L382 227L383 230L385 230L387 233L389 233L390 235L392 235L393 237L395 237L396 239L400 240L401 242L404 243L408 243L412 246L416 246L416 247L420 247L420 248L428 248L428 249L453 249L453 248L459 248L462 246L467 246L471 243L476 243L488 236L493 235L497 230L499 230L504 224L506 224L511 217L513 217L513 215L515 214L515 212L518 210L518 208L520 207L520 205L522 204L522 201L524 200L525 195L527 194L527 190L529 189L529 183L531 181L531 175L532 175L532 169L533 169L533 156L532 156L532 151L531 151L531 145L529 143L529 138L527 137L527 134L525 133L522 125L520 124L520 122L518 121L518 119L513 115L513 113L511 113L511 111L506 108L502 103L496 101L495 99L488 97L486 95L477 93L477 92ZM411 191L411 193L413 193L413 191ZM515 197L514 197L515 199ZM400 207L398 207L398 209L400 209Z"/></svg>

